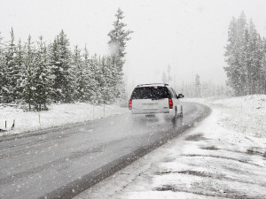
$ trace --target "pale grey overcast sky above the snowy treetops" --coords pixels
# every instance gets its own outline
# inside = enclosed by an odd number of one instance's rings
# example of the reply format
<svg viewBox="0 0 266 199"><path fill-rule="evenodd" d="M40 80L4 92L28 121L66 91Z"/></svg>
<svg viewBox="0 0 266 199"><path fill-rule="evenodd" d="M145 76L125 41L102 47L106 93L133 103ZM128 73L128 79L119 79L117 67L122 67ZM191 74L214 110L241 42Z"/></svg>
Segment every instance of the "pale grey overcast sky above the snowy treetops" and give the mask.
<svg viewBox="0 0 266 199"><path fill-rule="evenodd" d="M264 0L0 0L0 32L26 42L31 34L47 42L63 29L72 46L87 43L90 54L108 54L108 32L114 13L134 30L128 42L125 73L129 85L161 82L171 66L176 83L201 80L224 84L224 46L233 16L245 11L266 36ZM172 84L174 82L171 82Z"/></svg>

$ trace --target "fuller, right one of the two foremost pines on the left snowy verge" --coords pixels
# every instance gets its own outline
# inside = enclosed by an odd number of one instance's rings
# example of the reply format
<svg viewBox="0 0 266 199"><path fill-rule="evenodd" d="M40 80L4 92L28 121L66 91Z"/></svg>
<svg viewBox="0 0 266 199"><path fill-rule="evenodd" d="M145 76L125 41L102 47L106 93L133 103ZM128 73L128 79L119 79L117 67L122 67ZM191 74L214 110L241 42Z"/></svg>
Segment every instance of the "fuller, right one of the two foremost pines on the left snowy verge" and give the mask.
<svg viewBox="0 0 266 199"><path fill-rule="evenodd" d="M47 49L43 42L43 36L40 36L35 54L34 73L34 85L36 88L34 92L34 103L37 111L47 110L47 104L51 101L52 81Z"/></svg>

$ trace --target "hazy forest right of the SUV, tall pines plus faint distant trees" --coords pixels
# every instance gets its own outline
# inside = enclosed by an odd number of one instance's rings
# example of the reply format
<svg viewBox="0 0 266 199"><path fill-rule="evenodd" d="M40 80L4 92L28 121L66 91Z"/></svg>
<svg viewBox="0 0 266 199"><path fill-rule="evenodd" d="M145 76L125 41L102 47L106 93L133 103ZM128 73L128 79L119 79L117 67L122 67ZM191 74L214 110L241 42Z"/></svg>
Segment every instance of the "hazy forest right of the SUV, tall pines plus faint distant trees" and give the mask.
<svg viewBox="0 0 266 199"><path fill-rule="evenodd" d="M187 97L266 94L266 39L257 32L252 19L247 23L244 11L238 19L231 19L224 57L226 85L200 80L196 74L194 82L174 85L176 91ZM162 74L163 82L172 80L169 70Z"/></svg>

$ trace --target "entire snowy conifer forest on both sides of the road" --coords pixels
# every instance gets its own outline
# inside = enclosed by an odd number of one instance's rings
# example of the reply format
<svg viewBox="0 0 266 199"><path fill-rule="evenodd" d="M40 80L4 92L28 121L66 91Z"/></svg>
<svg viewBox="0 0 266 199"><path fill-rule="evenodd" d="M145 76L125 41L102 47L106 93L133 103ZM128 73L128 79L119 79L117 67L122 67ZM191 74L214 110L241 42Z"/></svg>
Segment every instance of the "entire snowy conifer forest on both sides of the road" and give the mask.
<svg viewBox="0 0 266 199"><path fill-rule="evenodd" d="M90 54L86 45L71 50L63 30L51 43L44 42L43 36L32 41L30 35L27 42L17 41L13 29L8 42L0 35L0 103L27 104L27 110L42 111L49 103L125 102L125 47L133 31L124 29L127 25L121 22L121 9L115 18L106 56ZM226 86L200 80L196 74L194 82L174 88L187 97L266 94L266 39L252 19L246 22L244 12L231 19L224 57ZM162 82L171 79L169 72L162 74Z"/></svg>

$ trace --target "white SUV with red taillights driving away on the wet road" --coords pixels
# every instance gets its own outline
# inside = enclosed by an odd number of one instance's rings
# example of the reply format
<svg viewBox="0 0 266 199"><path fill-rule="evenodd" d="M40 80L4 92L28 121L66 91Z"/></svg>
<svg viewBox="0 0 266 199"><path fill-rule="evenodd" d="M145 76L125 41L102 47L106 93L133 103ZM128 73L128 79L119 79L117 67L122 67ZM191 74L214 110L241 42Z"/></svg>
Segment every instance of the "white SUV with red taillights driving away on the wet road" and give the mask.
<svg viewBox="0 0 266 199"><path fill-rule="evenodd" d="M179 98L168 84L141 84L132 92L129 99L129 110L132 114L153 116L162 113L171 118L183 117L183 106Z"/></svg>

